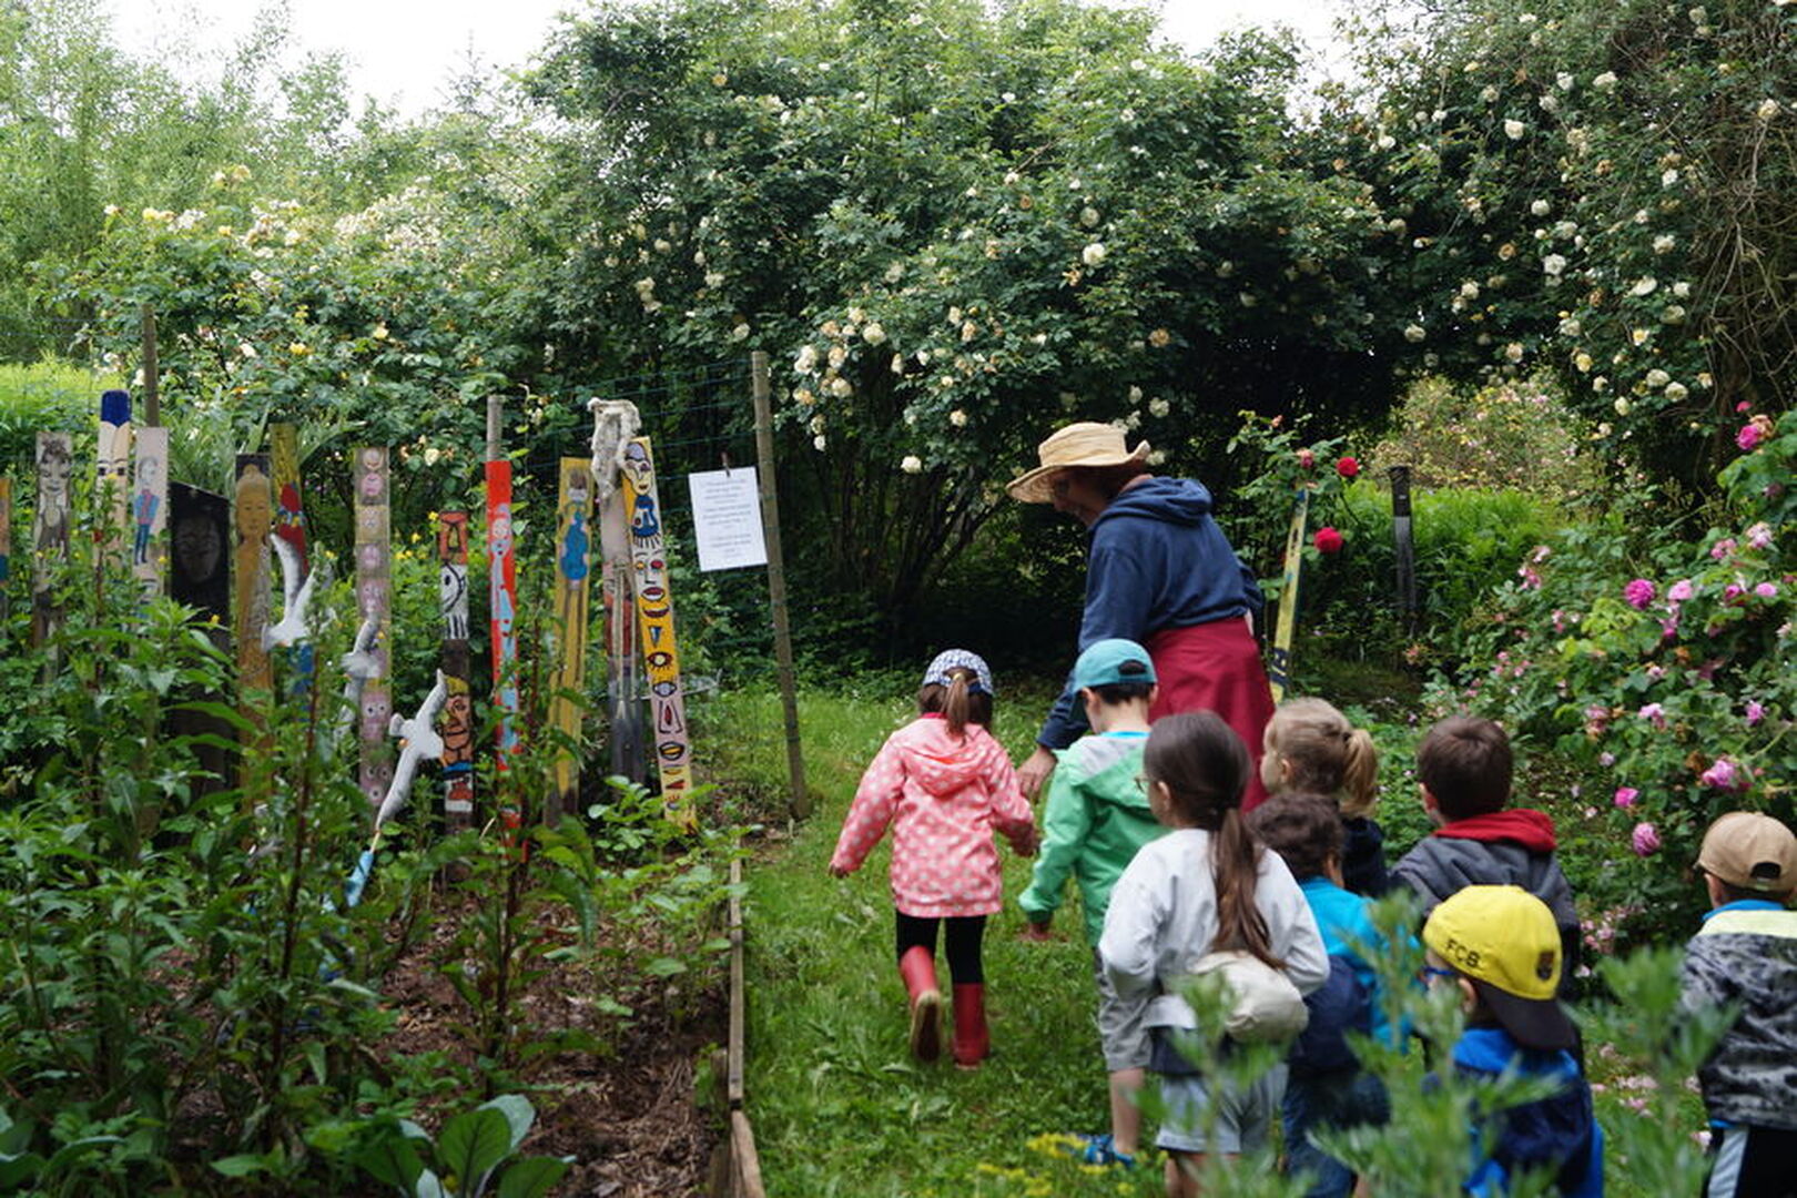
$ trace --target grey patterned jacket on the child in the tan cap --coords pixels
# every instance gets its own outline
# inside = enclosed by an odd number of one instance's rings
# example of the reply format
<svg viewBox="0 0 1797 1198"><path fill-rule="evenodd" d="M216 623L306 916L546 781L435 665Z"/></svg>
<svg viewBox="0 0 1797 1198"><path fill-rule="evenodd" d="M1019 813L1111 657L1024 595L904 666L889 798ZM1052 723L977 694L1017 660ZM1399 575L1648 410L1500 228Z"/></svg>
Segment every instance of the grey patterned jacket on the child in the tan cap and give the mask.
<svg viewBox="0 0 1797 1198"><path fill-rule="evenodd" d="M1704 916L1680 1002L1741 1008L1696 1074L1709 1117L1797 1132L1797 911L1745 902Z"/></svg>

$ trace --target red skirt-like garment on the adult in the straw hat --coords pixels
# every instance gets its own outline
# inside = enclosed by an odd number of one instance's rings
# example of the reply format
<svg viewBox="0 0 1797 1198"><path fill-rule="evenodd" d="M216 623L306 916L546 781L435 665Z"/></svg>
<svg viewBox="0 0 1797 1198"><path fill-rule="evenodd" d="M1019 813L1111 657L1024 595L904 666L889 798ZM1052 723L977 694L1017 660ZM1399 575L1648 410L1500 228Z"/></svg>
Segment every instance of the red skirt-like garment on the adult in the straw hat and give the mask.
<svg viewBox="0 0 1797 1198"><path fill-rule="evenodd" d="M1163 629L1143 643L1154 659L1161 693L1148 718L1181 711L1215 711L1247 744L1254 772L1242 797L1251 812L1267 797L1260 785L1260 751L1272 718L1272 688L1260 661L1260 645L1247 620L1213 620L1188 629Z"/></svg>

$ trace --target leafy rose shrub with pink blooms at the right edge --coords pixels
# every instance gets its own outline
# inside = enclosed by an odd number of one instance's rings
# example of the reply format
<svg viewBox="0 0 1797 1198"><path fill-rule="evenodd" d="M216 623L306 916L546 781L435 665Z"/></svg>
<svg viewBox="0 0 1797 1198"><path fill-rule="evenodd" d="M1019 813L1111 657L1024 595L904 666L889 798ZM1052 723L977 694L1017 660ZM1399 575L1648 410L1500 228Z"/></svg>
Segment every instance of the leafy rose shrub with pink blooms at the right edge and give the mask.
<svg viewBox="0 0 1797 1198"><path fill-rule="evenodd" d="M1544 541L1468 638L1475 665L1436 693L1583 767L1610 812L1617 889L1605 898L1639 930L1695 914L1678 873L1718 814L1793 815L1797 417L1748 422L1741 444L1700 535L1659 526L1641 501Z"/></svg>

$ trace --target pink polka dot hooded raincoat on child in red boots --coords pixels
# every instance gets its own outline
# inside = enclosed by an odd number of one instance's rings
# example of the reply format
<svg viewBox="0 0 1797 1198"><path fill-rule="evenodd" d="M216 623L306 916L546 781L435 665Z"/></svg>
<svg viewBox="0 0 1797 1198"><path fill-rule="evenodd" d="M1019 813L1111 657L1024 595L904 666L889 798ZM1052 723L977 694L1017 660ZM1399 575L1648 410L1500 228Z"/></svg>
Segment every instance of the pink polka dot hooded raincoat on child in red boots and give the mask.
<svg viewBox="0 0 1797 1198"><path fill-rule="evenodd" d="M1003 900L997 828L1019 853L1033 846L1017 772L978 724L965 736L922 717L886 738L861 776L832 868L857 869L893 828L893 903L907 916L996 914Z"/></svg>

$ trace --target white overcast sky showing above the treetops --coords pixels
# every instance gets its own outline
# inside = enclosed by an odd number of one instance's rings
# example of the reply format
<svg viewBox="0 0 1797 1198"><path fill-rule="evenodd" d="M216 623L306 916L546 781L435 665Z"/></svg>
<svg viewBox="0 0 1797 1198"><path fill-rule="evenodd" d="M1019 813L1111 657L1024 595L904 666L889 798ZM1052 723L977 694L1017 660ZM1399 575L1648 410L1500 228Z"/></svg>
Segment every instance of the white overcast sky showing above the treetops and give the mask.
<svg viewBox="0 0 1797 1198"><path fill-rule="evenodd" d="M239 41L255 20L257 0L104 0L119 41L133 50L189 57L180 47L198 38L201 52ZM289 0L289 29L311 50L341 50L352 79L404 113L438 102L444 81L469 56L518 66L536 52L561 11L579 0ZM1164 0L1163 31L1202 48L1218 32L1249 23L1287 23L1315 43L1328 36L1326 0Z"/></svg>

